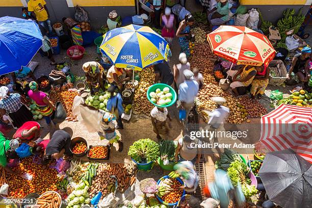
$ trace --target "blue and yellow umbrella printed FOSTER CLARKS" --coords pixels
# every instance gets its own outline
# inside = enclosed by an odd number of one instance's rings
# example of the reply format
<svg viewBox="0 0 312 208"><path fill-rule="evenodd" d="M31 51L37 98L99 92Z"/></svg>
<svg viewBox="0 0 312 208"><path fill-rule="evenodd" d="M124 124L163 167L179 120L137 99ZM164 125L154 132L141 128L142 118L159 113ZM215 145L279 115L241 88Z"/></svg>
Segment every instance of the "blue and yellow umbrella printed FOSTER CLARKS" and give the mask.
<svg viewBox="0 0 312 208"><path fill-rule="evenodd" d="M167 41L151 28L135 24L107 32L100 49L116 67L139 71L167 61L170 50Z"/></svg>

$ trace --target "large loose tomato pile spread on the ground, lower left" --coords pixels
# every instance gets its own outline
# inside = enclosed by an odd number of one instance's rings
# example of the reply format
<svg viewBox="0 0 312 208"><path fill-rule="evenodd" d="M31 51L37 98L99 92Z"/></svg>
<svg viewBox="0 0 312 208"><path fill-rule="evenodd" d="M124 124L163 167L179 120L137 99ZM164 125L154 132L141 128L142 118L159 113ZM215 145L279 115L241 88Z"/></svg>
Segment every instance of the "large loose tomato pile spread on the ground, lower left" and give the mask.
<svg viewBox="0 0 312 208"><path fill-rule="evenodd" d="M15 175L11 175L8 180L9 196L23 198L30 193L43 194L46 191L57 191L56 183L59 181L57 170L47 168L47 166L33 163L33 158L21 159L21 163L12 168ZM33 176L32 180L22 178L24 173Z"/></svg>

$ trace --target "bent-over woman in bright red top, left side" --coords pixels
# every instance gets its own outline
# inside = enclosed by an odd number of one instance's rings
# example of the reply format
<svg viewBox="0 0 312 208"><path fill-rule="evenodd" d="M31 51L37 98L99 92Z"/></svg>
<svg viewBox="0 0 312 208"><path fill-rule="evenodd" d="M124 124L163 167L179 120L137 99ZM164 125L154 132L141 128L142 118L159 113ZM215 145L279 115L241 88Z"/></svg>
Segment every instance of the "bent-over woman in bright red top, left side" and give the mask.
<svg viewBox="0 0 312 208"><path fill-rule="evenodd" d="M27 121L17 129L17 131L13 135L13 139L19 139L21 140L21 142L26 142L38 139L40 136L40 124L36 121Z"/></svg>

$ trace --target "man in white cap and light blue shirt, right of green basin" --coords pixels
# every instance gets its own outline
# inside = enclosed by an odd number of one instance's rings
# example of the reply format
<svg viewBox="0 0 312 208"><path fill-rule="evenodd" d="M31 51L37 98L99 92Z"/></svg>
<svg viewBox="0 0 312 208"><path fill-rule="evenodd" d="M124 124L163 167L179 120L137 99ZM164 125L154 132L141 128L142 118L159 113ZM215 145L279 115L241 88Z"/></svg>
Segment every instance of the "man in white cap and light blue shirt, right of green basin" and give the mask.
<svg viewBox="0 0 312 208"><path fill-rule="evenodd" d="M192 80L194 73L191 70L186 69L183 71L183 74L185 81L179 85L178 108L186 111L185 125L188 122L189 113L194 106L194 98L198 93L199 85L195 80Z"/></svg>

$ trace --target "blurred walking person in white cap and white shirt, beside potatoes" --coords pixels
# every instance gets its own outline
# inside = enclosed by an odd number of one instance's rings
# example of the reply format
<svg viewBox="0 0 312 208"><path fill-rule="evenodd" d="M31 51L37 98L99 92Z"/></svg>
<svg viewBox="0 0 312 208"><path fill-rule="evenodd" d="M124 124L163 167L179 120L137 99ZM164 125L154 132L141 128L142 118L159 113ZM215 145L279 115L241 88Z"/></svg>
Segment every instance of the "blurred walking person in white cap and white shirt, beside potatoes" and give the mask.
<svg viewBox="0 0 312 208"><path fill-rule="evenodd" d="M208 124L211 128L219 128L221 123L224 123L229 115L229 108L222 106L226 99L224 97L213 97L212 100L217 103L217 109L215 109L209 115Z"/></svg>

